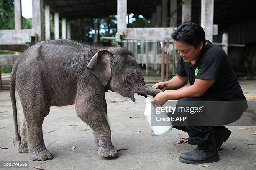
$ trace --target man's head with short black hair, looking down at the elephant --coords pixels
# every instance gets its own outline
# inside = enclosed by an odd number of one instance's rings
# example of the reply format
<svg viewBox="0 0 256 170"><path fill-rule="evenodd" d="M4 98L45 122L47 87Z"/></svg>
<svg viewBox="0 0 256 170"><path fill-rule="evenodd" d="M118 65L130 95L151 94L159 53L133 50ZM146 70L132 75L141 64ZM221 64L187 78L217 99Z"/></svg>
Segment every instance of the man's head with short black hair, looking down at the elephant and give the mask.
<svg viewBox="0 0 256 170"><path fill-rule="evenodd" d="M184 62L197 60L205 46L205 32L203 28L193 22L181 23L172 33L172 38Z"/></svg>

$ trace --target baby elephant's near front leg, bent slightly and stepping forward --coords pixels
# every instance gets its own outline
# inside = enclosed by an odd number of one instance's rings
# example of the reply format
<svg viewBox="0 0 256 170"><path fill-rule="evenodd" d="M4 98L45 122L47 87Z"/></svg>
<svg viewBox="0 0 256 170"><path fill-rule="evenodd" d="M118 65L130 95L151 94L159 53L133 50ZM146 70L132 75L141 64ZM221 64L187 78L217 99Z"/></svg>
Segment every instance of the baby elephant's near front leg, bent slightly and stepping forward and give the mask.
<svg viewBox="0 0 256 170"><path fill-rule="evenodd" d="M92 97L88 97L88 94L82 95L80 93L79 95L76 99L77 116L92 128L95 133L95 141L98 138L98 154L104 157L115 157L117 151L111 142L111 130L105 109L103 109L102 95L98 97L95 93Z"/></svg>

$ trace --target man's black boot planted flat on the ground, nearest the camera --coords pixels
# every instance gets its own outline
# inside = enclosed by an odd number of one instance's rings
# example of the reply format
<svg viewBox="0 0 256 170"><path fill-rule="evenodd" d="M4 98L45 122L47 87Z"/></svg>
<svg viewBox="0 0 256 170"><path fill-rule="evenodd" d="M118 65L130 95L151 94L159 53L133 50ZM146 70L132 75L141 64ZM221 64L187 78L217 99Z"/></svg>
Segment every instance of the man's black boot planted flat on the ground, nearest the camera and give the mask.
<svg viewBox="0 0 256 170"><path fill-rule="evenodd" d="M207 162L216 162L219 160L214 137L204 144L198 145L197 148L186 153L181 153L179 160L183 163L202 164Z"/></svg>

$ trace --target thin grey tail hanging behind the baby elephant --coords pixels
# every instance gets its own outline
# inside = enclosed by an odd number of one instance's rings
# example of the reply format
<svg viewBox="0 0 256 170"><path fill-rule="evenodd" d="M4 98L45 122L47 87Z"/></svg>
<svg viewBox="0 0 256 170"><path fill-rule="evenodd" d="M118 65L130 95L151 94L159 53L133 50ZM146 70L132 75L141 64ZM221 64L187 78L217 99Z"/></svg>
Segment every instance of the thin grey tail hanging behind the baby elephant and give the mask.
<svg viewBox="0 0 256 170"><path fill-rule="evenodd" d="M17 60L13 64L12 73L10 76L10 98L12 101L12 107L13 107L13 121L14 121L14 128L15 128L15 140L20 140L20 134L19 134L19 125L18 125L18 114L17 114L17 105L16 105L16 71L17 67L20 62L20 57L17 58Z"/></svg>

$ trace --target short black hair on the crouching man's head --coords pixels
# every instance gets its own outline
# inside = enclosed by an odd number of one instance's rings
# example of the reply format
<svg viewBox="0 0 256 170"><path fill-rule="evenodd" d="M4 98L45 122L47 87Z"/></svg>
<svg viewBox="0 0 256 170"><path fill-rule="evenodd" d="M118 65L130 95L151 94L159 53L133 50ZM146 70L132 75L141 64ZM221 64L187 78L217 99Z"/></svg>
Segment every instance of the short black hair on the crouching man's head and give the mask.
<svg viewBox="0 0 256 170"><path fill-rule="evenodd" d="M172 39L183 42L188 45L193 45L195 48L202 41L205 46L205 31L197 23L184 22L181 23L172 33Z"/></svg>

